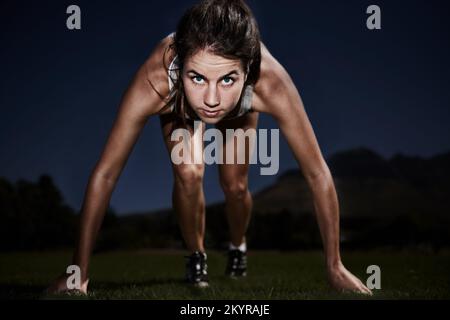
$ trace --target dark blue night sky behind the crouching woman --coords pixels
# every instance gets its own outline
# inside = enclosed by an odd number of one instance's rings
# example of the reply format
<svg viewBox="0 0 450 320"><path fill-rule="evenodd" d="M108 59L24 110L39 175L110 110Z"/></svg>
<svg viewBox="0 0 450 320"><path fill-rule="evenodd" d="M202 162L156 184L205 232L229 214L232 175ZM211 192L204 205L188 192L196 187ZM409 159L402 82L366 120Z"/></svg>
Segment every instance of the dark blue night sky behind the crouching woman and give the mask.
<svg viewBox="0 0 450 320"><path fill-rule="evenodd" d="M195 1L5 1L0 4L0 176L50 174L79 210L121 96L154 45ZM66 28L81 7L82 29ZM248 1L262 39L292 76L325 156L365 146L390 157L450 148L448 1ZM382 30L366 28L366 8ZM265 115L261 128L277 128ZM284 140L280 173L296 162ZM208 203L223 199L207 166ZM250 172L257 191L276 176ZM169 207L172 176L151 118L120 177L119 213Z"/></svg>

